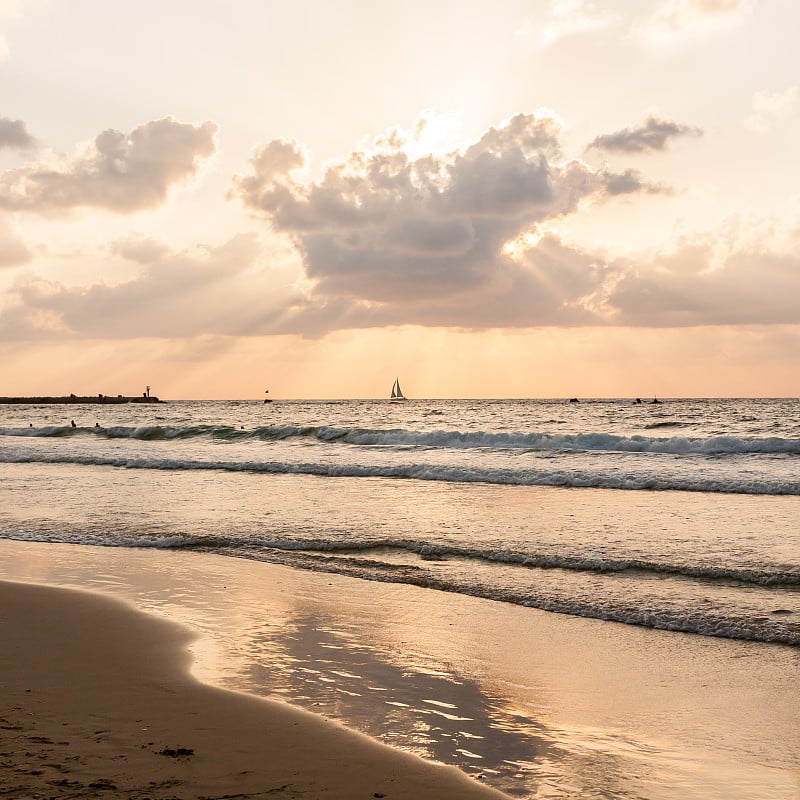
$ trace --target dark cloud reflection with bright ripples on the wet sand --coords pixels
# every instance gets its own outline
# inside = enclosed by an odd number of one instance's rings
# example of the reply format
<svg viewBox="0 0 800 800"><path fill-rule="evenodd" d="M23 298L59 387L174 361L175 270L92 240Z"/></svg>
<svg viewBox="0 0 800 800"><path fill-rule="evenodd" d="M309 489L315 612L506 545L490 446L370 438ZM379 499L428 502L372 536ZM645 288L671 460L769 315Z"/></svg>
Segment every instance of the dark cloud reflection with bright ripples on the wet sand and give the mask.
<svg viewBox="0 0 800 800"><path fill-rule="evenodd" d="M413 660L390 663L319 616L267 625L252 644L259 658L238 688L285 696L395 747L491 775L504 791L530 793L535 787L520 787L520 774L551 757L546 730L476 682Z"/></svg>

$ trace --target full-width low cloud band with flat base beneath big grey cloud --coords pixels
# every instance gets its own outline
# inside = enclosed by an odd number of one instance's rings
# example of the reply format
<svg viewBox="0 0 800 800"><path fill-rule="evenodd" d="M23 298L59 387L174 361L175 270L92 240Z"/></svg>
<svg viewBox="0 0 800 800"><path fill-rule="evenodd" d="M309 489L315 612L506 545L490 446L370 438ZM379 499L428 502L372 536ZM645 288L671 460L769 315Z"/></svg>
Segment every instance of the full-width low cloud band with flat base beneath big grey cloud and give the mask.
<svg viewBox="0 0 800 800"><path fill-rule="evenodd" d="M794 242L800 239L800 232ZM365 301L304 292L276 272L261 240L168 253L115 286L67 287L20 276L0 313L0 341L224 337L417 325L469 330L799 325L793 240L678 242L666 252L610 258L539 232L494 259L491 274L444 290Z"/></svg>

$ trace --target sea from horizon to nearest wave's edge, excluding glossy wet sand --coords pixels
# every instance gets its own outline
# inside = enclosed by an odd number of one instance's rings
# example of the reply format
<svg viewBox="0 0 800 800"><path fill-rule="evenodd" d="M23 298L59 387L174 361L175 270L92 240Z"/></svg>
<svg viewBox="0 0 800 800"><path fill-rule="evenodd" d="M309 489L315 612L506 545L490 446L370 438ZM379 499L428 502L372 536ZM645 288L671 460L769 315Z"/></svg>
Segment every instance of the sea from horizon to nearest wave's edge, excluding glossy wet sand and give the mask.
<svg viewBox="0 0 800 800"><path fill-rule="evenodd" d="M800 645L797 400L9 405L0 480L0 538Z"/></svg>

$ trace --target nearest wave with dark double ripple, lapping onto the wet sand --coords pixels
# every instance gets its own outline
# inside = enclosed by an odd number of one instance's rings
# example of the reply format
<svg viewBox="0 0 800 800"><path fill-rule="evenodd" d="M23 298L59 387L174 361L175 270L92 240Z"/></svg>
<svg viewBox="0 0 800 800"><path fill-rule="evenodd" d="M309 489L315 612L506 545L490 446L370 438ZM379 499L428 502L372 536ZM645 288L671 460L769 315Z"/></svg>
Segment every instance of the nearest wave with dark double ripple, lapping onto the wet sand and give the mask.
<svg viewBox="0 0 800 800"><path fill-rule="evenodd" d="M3 533L0 532L0 537ZM8 538L25 539L26 536ZM40 537L36 537L41 541ZM62 534L51 541L72 541ZM424 542L398 542L397 540L348 542L298 541L258 537L247 539L225 536L144 536L120 537L113 541L100 537L82 537L79 543L101 544L112 547L143 547L169 550L211 552L220 555L284 564L315 572L328 572L385 583L402 583L436 589L456 594L481 597L514 605L536 608L572 616L620 622L659 630L679 631L704 636L740 639L745 641L800 646L800 623L796 614L776 609L767 617L747 614L726 615L703 609L677 609L664 606L642 605L640 602L620 604L604 601L602 595L594 599L554 594L540 589L534 581L527 588L503 585L489 578L479 578L474 571L467 582L457 574L447 571L435 573L424 569L426 560L471 559L516 565L528 569L562 569L569 572L650 573L656 578L691 580L705 583L736 582L749 586L749 591L760 587L793 595L800 587L800 573L796 571L765 571L758 569L718 569L692 565L650 563L637 560L586 559L580 556L554 556L512 552L483 551L472 548L434 547ZM402 550L420 557L420 565L390 563L381 559L387 550ZM787 595L788 596L788 595ZM776 598L777 600L777 598ZM790 603L791 605L791 603Z"/></svg>

